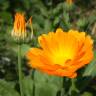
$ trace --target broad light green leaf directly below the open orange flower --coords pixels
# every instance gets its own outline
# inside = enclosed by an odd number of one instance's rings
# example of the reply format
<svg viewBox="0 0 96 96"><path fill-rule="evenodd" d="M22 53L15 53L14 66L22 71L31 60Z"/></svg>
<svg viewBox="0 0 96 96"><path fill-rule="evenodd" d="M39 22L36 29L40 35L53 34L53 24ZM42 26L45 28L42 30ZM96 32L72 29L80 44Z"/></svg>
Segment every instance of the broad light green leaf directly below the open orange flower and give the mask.
<svg viewBox="0 0 96 96"><path fill-rule="evenodd" d="M56 96L57 92L61 90L62 78L60 77L49 76L35 71L34 81L36 96Z"/></svg>

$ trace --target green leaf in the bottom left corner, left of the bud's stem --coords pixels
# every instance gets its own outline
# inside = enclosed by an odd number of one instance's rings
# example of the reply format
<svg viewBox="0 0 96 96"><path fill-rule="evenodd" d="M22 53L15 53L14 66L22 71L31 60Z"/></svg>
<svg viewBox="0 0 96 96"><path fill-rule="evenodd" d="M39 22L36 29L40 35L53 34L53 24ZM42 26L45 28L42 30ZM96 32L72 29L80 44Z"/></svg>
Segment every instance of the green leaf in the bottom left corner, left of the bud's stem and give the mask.
<svg viewBox="0 0 96 96"><path fill-rule="evenodd" d="M20 96L19 93L14 89L12 84L0 80L0 96Z"/></svg>

